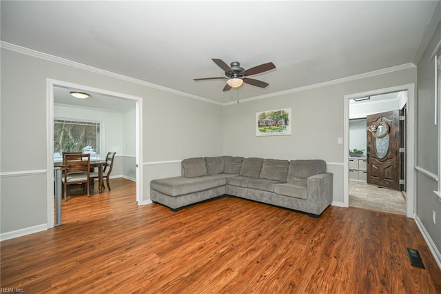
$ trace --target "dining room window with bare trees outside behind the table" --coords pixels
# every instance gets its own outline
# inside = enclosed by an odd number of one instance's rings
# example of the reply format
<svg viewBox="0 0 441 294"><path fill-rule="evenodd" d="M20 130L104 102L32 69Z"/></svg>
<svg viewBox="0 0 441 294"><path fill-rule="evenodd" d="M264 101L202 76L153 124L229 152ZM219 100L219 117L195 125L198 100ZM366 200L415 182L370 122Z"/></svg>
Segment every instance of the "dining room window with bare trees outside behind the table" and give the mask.
<svg viewBox="0 0 441 294"><path fill-rule="evenodd" d="M63 152L90 153L99 158L101 140L99 121L54 119L54 161L63 158Z"/></svg>

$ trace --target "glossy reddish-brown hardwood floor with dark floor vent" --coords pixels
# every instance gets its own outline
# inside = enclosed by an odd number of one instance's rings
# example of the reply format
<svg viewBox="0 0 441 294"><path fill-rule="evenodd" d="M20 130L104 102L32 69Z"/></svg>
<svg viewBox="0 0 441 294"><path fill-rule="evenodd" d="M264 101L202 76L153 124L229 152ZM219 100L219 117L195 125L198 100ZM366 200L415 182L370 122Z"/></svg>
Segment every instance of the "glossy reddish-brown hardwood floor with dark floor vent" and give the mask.
<svg viewBox="0 0 441 294"><path fill-rule="evenodd" d="M1 287L25 293L441 293L404 216L331 206L313 219L235 197L172 213L136 206L125 179L64 202L62 226L0 245Z"/></svg>

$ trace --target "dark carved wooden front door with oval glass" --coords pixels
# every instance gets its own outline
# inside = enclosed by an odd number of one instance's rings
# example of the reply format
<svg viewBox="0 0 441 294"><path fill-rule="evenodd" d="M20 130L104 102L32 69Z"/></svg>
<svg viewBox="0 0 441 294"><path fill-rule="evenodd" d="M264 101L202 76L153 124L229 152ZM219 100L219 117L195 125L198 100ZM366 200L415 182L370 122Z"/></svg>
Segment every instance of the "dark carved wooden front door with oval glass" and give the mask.
<svg viewBox="0 0 441 294"><path fill-rule="evenodd" d="M366 123L367 184L400 190L400 111L368 115Z"/></svg>

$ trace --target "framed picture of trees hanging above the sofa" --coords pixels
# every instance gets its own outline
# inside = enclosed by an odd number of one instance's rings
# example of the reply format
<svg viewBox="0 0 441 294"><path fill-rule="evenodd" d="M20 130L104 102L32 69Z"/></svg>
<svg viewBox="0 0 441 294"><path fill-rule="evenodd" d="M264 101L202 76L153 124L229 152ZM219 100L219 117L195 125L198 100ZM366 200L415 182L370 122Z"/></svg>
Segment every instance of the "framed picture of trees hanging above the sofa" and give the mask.
<svg viewBox="0 0 441 294"><path fill-rule="evenodd" d="M291 135L291 108L256 112L256 136Z"/></svg>

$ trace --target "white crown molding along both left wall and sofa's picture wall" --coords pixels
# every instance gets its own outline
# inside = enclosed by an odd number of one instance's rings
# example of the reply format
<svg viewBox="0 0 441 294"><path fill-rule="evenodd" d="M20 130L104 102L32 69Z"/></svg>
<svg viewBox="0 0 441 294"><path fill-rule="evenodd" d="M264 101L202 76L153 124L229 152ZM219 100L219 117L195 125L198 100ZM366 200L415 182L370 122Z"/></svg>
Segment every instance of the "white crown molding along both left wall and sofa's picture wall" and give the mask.
<svg viewBox="0 0 441 294"><path fill-rule="evenodd" d="M440 7L440 6L438 6L438 7ZM87 70L89 72L94 72L94 73L97 73L99 75L105 75L107 77L113 77L115 79L121 79L123 81L129 81L131 83L139 84L141 86L145 86L145 87L148 87L148 88L154 88L154 89L157 89L157 90L163 90L165 92L170 92L170 93L173 93L173 94L176 94L176 95L181 95L181 96L192 98L192 99L196 99L196 100L199 100L199 101L204 101L204 102L207 102L209 104L216 104L216 105L219 105L219 106L229 106L229 105L232 105L232 104L251 102L251 101L255 101L255 100L260 100L260 99L276 97L276 96L280 96L280 95L291 94L291 93L294 93L294 92L302 92L302 91L305 91L305 90L311 90L311 89L316 89L316 88L322 88L322 87L325 87L325 86L341 84L341 83L345 83L347 81L356 81L358 79L365 79L367 77L374 77L374 76L377 76L377 75L384 75L384 74L387 74L389 72L396 72L396 71L399 71L399 70L406 70L406 69L409 69L409 68L415 68L416 67L416 65L414 63L404 63L404 64L402 64L400 66L392 66L390 68L382 68L380 70L373 70L371 72L365 72L365 73L362 73L362 74L359 74L359 75L353 75L353 76L350 76L350 77L343 77L343 78L340 78L340 79L334 79L334 80L331 80L331 81L325 81L325 82L318 83L318 84L312 84L312 85L308 85L308 86L292 88L292 89L289 89L289 90L283 90L283 91L274 92L274 93L270 93L270 94L266 94L266 95L260 95L260 96L256 96L256 97L242 99L242 100L239 100L239 101L231 101L231 102L222 103L222 102L214 101L212 99L207 99L207 98L200 97L200 96L197 96L197 95L192 95L192 94L189 94L187 92L182 92L182 91L175 90L175 89L172 89L172 88L167 88L167 87L164 87L164 86L159 86L159 85L156 85L156 84L152 84L152 83L150 83L148 81L143 81L141 79L134 79L132 77L127 77L125 75L120 75L120 74L117 74L115 72L110 72L108 70L103 70L101 68L95 68L93 66L88 66L86 64L79 63L79 62L76 62L76 61L71 61L69 59L64 59L64 58L57 57L57 56L54 56L54 55L50 55L50 54L47 54L47 53L44 53L44 52L39 52L37 50L32 50L32 49L25 48L25 47L22 47L22 46L14 45L12 43L8 43L8 42L5 42L5 41L0 41L0 48L5 48L5 49L12 50L12 51L15 51L15 52L19 52L19 53L22 53L22 54L25 54L25 55L30 55L32 57L37 57L37 58L40 58L40 59L45 59L45 60L48 60L48 61L53 61L53 62L61 63L61 64L66 65L66 66L72 66L74 68L79 68L81 70Z"/></svg>

